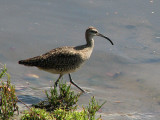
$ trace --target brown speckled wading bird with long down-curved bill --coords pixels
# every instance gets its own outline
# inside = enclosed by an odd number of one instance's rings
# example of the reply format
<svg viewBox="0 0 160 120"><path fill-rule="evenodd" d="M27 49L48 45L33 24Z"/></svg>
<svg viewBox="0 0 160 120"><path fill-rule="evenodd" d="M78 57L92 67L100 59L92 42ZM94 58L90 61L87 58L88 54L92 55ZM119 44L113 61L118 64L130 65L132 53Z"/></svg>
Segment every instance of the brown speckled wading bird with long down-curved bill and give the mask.
<svg viewBox="0 0 160 120"><path fill-rule="evenodd" d="M79 88L82 92L85 92L80 88L71 78L72 72L75 72L81 67L81 65L90 58L93 47L94 47L94 36L100 36L110 41L113 45L113 42L106 36L100 34L98 30L94 27L89 27L86 30L86 44L80 46L64 46L55 48L45 54L29 58L26 60L20 60L19 64L25 66L35 66L41 70L59 74L59 78L56 80L55 85L57 86L58 81L64 74L69 75L70 82Z"/></svg>

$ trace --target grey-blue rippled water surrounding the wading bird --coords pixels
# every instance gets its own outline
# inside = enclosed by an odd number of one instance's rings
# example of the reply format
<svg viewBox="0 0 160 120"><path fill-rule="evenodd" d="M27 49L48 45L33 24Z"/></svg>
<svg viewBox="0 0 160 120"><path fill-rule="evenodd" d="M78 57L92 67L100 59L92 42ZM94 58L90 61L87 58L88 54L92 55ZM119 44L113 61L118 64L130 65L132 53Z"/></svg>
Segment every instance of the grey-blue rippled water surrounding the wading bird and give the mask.
<svg viewBox="0 0 160 120"><path fill-rule="evenodd" d="M94 26L115 45L95 37L90 60L72 74L79 86L92 92L81 96L79 104L95 96L107 100L99 112L104 119L158 120L159 6L159 0L0 0L0 62L7 64L19 98L36 103L58 76L17 61L84 44L85 29Z"/></svg>

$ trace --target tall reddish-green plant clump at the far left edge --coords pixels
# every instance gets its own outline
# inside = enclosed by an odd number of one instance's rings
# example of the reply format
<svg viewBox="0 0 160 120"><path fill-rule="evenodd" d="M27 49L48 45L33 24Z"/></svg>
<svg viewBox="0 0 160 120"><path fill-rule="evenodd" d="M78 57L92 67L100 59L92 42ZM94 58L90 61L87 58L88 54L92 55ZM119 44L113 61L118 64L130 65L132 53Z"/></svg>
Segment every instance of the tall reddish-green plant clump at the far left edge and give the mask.
<svg viewBox="0 0 160 120"><path fill-rule="evenodd" d="M7 81L0 82L0 119L8 120L14 112L18 112L17 96L15 87L10 83L10 75L7 73L6 66L1 69L0 79L6 77Z"/></svg>

